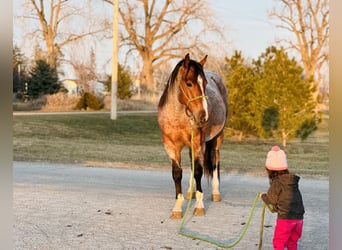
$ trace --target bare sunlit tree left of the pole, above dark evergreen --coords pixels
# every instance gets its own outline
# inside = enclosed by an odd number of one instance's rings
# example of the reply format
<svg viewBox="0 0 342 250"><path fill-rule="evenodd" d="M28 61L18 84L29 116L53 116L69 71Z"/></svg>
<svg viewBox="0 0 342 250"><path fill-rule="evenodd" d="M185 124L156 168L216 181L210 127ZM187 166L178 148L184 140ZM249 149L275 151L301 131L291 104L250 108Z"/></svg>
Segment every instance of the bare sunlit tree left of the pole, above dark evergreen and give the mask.
<svg viewBox="0 0 342 250"><path fill-rule="evenodd" d="M25 4L33 9L24 18L38 20L40 27L33 34L42 34L47 61L53 68L58 66L58 55L65 45L110 28L108 22L101 18L97 18L100 22L90 24L93 19L89 16L91 10L85 13L84 8L74 6L68 0L26 0ZM75 23L76 16L80 18L77 25L71 25L72 21Z"/></svg>

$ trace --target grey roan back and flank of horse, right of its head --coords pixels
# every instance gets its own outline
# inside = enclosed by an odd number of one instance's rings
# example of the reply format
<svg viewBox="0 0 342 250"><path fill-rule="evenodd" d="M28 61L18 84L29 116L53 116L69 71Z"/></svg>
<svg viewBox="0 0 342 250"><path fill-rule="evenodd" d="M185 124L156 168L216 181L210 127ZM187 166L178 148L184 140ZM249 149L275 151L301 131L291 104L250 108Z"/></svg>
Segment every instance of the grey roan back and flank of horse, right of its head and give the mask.
<svg viewBox="0 0 342 250"><path fill-rule="evenodd" d="M211 71L206 71L207 86L205 94L208 96L208 129L206 141L213 139L224 128L228 115L228 93L222 78Z"/></svg>

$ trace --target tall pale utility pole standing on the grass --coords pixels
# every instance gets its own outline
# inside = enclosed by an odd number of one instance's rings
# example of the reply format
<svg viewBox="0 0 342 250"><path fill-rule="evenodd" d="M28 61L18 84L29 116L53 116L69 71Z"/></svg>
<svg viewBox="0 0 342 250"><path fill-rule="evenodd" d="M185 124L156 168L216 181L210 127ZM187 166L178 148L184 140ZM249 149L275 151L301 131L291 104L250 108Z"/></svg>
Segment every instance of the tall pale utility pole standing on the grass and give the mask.
<svg viewBox="0 0 342 250"><path fill-rule="evenodd" d="M113 52L112 52L112 89L110 119L117 117L117 91L118 91L118 51L119 51L119 0L113 0Z"/></svg>

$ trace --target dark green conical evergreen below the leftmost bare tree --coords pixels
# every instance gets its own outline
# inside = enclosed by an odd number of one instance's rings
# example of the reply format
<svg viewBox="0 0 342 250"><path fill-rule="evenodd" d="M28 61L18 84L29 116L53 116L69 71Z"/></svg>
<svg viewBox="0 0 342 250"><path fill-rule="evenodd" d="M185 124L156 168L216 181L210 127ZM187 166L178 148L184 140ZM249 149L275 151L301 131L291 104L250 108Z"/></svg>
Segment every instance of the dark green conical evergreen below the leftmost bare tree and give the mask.
<svg viewBox="0 0 342 250"><path fill-rule="evenodd" d="M37 60L27 79L28 95L38 98L45 94L57 93L60 89L57 71L44 60Z"/></svg>

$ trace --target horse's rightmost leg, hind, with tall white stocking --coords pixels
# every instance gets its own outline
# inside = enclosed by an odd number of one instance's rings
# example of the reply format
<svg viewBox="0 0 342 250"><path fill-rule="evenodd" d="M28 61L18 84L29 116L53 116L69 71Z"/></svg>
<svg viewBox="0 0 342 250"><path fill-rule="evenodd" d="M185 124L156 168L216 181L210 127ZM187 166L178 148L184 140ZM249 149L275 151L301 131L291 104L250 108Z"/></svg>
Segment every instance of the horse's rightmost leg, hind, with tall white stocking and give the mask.
<svg viewBox="0 0 342 250"><path fill-rule="evenodd" d="M221 201L220 195L220 147L223 141L223 132L221 132L216 137L215 147L213 149L213 179L212 179L212 200L213 201Z"/></svg>

